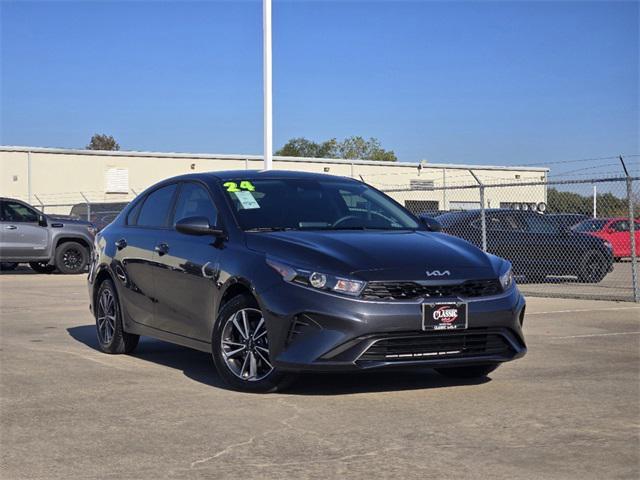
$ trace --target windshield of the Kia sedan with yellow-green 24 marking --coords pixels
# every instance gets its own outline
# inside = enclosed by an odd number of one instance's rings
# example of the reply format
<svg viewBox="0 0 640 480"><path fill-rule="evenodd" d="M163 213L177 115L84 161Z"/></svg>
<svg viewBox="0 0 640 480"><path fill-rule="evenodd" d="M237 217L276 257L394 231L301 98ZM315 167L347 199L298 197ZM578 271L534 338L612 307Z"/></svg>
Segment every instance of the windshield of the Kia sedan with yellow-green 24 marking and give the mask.
<svg viewBox="0 0 640 480"><path fill-rule="evenodd" d="M415 230L420 224L377 190L338 178L225 181L243 230Z"/></svg>

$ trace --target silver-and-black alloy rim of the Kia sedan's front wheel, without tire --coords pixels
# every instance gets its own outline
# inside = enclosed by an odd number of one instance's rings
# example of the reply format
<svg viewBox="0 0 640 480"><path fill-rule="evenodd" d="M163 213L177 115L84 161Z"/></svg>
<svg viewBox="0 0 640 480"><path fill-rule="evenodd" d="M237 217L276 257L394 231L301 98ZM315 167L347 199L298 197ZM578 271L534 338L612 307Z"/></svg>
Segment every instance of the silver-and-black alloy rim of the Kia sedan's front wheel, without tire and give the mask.
<svg viewBox="0 0 640 480"><path fill-rule="evenodd" d="M220 347L227 367L241 380L257 382L273 371L267 327L256 308L238 310L227 319Z"/></svg>

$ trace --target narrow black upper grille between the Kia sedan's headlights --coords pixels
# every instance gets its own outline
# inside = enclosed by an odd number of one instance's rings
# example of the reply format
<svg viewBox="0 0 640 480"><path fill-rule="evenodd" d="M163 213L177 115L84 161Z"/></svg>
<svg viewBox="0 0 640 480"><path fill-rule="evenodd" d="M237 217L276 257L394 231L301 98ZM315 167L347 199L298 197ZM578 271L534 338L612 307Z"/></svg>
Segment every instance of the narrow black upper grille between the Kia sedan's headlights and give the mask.
<svg viewBox="0 0 640 480"><path fill-rule="evenodd" d="M454 285L424 285L418 282L369 282L362 292L368 300L412 298L485 297L501 292L498 280L469 280Z"/></svg>

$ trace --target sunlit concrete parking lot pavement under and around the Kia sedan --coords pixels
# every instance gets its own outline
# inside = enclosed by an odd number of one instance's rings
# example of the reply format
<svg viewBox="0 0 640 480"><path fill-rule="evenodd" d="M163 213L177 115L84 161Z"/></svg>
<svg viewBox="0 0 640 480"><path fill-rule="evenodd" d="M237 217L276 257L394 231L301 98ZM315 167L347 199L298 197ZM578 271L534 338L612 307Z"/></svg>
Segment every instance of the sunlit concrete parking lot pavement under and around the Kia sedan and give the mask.
<svg viewBox="0 0 640 480"><path fill-rule="evenodd" d="M96 350L84 276L0 275L0 477L638 478L640 306L530 298L529 353L225 389L208 355Z"/></svg>

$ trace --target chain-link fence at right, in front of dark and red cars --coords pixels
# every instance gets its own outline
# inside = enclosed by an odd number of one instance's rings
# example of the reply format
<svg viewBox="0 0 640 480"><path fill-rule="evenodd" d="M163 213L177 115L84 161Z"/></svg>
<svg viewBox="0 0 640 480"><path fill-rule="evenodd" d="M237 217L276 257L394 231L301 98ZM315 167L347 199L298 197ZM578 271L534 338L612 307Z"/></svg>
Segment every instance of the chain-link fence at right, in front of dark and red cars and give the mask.
<svg viewBox="0 0 640 480"><path fill-rule="evenodd" d="M525 294L640 300L638 177L476 180L386 192L414 214L437 219L445 233L508 259Z"/></svg>

